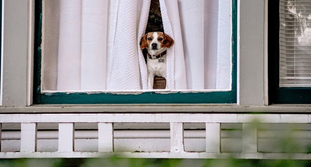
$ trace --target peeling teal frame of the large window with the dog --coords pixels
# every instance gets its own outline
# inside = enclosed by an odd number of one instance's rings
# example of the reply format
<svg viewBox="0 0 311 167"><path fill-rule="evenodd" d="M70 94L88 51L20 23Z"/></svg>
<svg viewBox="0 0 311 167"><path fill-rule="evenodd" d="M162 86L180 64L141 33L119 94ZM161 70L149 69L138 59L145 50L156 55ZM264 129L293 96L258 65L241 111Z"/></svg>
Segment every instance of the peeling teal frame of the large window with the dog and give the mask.
<svg viewBox="0 0 311 167"><path fill-rule="evenodd" d="M232 0L232 85L230 91L139 94L41 92L42 0L35 0L33 104L142 104L142 103L236 103L237 102L237 0Z"/></svg>

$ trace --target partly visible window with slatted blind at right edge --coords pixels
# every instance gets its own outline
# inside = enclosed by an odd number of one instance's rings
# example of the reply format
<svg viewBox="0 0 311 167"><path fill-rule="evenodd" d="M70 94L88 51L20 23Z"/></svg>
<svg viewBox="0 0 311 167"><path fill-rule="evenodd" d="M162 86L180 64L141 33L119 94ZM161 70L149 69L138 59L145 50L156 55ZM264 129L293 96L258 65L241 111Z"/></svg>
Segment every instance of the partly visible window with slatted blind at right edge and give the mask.
<svg viewBox="0 0 311 167"><path fill-rule="evenodd" d="M270 103L311 103L310 6L269 1Z"/></svg>

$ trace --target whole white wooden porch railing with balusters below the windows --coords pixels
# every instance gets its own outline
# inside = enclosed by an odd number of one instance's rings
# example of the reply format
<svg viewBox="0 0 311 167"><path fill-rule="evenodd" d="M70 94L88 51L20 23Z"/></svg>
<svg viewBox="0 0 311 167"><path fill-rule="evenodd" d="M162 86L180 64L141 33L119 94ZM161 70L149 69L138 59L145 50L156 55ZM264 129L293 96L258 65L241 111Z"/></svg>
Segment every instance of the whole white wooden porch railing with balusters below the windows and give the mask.
<svg viewBox="0 0 311 167"><path fill-rule="evenodd" d="M97 113L97 114L1 114L0 125L20 124L20 150L0 152L0 158L238 158L238 159L311 159L306 153L264 153L258 151L258 123L309 124L309 114L140 114L140 113ZM58 124L58 151L37 151L37 124ZM74 150L75 123L98 125L98 151L77 152ZM115 123L168 123L170 151L168 152L114 152ZM186 152L184 149L185 123L205 124L205 152ZM242 124L242 152L221 152L221 124ZM1 127L1 126L0 126ZM1 129L1 128L0 128ZM0 135L1 136L1 135ZM3 139L2 139L3 141ZM85 143L87 145L88 143ZM3 142L2 142L2 146Z"/></svg>

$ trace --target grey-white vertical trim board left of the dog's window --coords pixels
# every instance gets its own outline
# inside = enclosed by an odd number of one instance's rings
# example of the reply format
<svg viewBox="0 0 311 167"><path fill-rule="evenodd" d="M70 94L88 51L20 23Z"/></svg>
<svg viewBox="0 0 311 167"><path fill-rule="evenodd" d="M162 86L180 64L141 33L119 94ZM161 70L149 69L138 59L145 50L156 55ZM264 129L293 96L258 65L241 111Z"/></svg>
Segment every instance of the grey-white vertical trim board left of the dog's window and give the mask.
<svg viewBox="0 0 311 167"><path fill-rule="evenodd" d="M27 61L33 31L29 30L32 0L2 0L1 105L27 105ZM29 20L31 21L31 20ZM29 72L28 72L29 73ZM28 84L29 85L29 84Z"/></svg>

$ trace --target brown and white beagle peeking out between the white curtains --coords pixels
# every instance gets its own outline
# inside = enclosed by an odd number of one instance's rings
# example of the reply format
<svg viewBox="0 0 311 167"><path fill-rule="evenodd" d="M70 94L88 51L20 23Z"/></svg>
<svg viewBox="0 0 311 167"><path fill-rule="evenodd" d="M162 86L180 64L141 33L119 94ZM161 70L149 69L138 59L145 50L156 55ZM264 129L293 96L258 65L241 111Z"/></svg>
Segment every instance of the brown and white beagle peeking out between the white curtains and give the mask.
<svg viewBox="0 0 311 167"><path fill-rule="evenodd" d="M155 76L166 80L166 48L170 48L174 40L164 32L149 32L141 40L141 49L147 48L148 89L153 89ZM166 82L166 89L168 84Z"/></svg>

